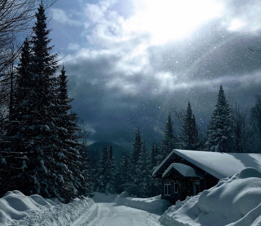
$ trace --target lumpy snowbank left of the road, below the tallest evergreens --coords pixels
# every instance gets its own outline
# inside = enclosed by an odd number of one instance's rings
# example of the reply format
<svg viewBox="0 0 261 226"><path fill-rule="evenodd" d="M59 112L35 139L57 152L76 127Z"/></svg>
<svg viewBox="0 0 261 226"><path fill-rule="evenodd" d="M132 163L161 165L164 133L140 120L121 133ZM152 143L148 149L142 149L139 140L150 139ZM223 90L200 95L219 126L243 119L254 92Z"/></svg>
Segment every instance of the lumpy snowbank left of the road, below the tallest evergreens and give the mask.
<svg viewBox="0 0 261 226"><path fill-rule="evenodd" d="M63 204L58 199L40 195L25 196L22 192L7 192L0 199L1 226L69 226L94 202L90 198L74 199Z"/></svg>

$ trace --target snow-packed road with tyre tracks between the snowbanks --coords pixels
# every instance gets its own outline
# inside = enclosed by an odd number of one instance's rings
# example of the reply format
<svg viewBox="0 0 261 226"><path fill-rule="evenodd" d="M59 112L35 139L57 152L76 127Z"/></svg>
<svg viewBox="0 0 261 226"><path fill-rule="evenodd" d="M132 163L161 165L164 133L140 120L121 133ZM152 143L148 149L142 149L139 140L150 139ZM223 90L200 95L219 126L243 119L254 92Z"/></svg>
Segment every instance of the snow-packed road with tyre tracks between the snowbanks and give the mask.
<svg viewBox="0 0 261 226"><path fill-rule="evenodd" d="M73 226L159 226L159 217L114 203L95 203Z"/></svg>

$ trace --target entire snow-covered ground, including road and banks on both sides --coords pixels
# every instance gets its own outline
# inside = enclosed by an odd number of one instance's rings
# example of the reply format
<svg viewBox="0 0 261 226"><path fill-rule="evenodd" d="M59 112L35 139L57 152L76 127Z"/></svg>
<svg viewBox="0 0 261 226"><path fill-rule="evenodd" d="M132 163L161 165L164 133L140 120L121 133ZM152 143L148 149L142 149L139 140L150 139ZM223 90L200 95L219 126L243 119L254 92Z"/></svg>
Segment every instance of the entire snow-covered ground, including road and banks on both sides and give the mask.
<svg viewBox="0 0 261 226"><path fill-rule="evenodd" d="M0 225L261 225L261 173L253 168L245 168L209 190L177 201L162 216L152 213L169 205L160 196L141 199L126 197L126 193L117 197L99 192L94 195L93 199L75 199L62 204L57 199L43 199L39 195L28 197L19 191L7 192L0 199Z"/></svg>

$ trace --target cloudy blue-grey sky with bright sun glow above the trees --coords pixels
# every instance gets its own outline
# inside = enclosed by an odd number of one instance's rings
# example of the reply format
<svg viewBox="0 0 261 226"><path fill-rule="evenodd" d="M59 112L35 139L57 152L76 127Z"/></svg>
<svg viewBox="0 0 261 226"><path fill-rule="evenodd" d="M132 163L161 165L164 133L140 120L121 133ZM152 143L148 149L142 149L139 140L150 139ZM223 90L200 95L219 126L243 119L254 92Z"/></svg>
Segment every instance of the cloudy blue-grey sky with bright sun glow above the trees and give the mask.
<svg viewBox="0 0 261 226"><path fill-rule="evenodd" d="M131 145L139 127L150 149L188 101L205 132L220 85L248 109L261 92L259 0L58 0L47 15L89 144Z"/></svg>

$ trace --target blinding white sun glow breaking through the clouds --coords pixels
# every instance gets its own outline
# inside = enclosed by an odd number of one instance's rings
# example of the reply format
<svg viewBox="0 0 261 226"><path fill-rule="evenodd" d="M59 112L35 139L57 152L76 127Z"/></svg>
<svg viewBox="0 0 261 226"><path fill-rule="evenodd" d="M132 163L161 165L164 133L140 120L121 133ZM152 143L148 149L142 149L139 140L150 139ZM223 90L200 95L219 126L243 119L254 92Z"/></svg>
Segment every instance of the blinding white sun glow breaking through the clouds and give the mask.
<svg viewBox="0 0 261 226"><path fill-rule="evenodd" d="M150 33L155 45L182 39L224 11L224 5L214 0L134 0L134 6L136 13L125 29Z"/></svg>

